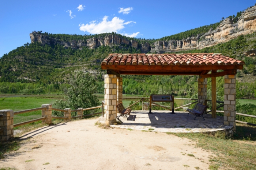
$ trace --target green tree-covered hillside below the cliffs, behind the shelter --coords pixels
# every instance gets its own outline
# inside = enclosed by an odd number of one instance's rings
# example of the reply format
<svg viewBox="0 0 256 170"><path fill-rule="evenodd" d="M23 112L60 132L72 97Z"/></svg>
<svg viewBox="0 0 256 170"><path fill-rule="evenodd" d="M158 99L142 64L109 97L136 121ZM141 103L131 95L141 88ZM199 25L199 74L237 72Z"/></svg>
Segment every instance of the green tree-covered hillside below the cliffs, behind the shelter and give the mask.
<svg viewBox="0 0 256 170"><path fill-rule="evenodd" d="M237 95L239 98L254 98L255 57L245 52L256 49L256 34L239 36L227 43L202 50L179 53L215 52L245 61L244 70L238 72ZM93 73L97 80L98 93L103 93L103 75L100 64L109 53L139 53L136 48L101 46L96 49L72 50L59 44L24 44L0 58L1 93L58 93L69 87L71 74L77 70ZM197 76L123 76L124 93L196 95ZM155 81L158 80L158 81ZM210 81L210 79L209 79ZM220 83L222 80L219 80ZM223 81L222 81L223 82ZM210 82L209 82L210 83ZM210 86L209 86L210 87ZM221 86L220 86L221 87ZM222 95L220 95L222 96Z"/></svg>

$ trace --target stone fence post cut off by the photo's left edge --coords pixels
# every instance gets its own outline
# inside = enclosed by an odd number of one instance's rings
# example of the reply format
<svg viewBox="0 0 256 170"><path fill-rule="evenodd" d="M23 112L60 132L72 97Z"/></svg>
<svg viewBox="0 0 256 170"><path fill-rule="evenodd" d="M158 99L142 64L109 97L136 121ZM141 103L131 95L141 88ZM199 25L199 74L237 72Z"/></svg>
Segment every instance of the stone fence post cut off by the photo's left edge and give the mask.
<svg viewBox="0 0 256 170"><path fill-rule="evenodd" d="M13 110L0 110L0 142L13 138Z"/></svg>

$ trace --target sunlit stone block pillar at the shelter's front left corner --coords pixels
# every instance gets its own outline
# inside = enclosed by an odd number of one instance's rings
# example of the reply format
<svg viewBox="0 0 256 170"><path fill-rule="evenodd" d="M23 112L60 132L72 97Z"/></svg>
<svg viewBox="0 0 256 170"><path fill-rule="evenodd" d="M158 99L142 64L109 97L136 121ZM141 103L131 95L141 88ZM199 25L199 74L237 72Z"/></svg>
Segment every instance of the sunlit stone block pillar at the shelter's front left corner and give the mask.
<svg viewBox="0 0 256 170"><path fill-rule="evenodd" d="M105 120L106 124L112 124L116 120L116 100L117 100L117 76L113 74L104 75L105 82Z"/></svg>

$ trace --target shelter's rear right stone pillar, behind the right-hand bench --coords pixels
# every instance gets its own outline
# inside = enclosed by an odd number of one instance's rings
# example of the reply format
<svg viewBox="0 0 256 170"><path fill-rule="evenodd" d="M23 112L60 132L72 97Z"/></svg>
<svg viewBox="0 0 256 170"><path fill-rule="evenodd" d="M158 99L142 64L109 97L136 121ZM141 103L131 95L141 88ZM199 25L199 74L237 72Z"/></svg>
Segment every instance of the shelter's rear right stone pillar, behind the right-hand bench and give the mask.
<svg viewBox="0 0 256 170"><path fill-rule="evenodd" d="M198 79L198 103L204 104L207 98L207 78Z"/></svg>

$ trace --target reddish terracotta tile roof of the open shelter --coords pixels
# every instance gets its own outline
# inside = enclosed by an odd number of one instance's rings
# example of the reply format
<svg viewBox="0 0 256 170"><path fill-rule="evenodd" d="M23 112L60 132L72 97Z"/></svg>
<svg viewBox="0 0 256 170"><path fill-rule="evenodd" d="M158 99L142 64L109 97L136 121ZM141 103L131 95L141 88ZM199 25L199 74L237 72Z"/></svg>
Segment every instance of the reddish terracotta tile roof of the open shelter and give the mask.
<svg viewBox="0 0 256 170"><path fill-rule="evenodd" d="M101 65L243 65L243 61L214 53L109 54Z"/></svg>

